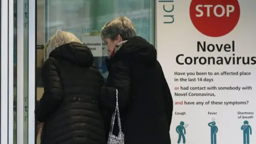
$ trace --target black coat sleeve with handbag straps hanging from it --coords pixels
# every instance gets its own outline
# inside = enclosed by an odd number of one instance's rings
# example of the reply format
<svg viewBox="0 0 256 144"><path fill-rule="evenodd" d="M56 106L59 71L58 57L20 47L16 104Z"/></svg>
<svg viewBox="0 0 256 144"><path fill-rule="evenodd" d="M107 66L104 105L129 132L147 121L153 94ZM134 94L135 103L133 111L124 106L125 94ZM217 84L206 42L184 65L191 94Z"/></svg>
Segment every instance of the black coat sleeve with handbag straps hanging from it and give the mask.
<svg viewBox="0 0 256 144"><path fill-rule="evenodd" d="M126 107L130 95L130 69L122 61L114 64L109 71L107 82L102 86L99 103L102 107L114 110L116 107L116 89L118 90L118 105L122 110Z"/></svg>

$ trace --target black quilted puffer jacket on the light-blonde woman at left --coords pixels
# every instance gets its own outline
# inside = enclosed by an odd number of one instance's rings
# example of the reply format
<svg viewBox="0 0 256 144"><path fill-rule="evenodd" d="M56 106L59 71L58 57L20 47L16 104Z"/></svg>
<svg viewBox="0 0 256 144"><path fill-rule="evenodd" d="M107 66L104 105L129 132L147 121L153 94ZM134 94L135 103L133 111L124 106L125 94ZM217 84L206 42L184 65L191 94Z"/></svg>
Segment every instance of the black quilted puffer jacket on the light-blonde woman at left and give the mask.
<svg viewBox="0 0 256 144"><path fill-rule="evenodd" d="M43 65L44 94L35 115L44 122L42 144L106 142L98 98L103 77L83 44L57 47Z"/></svg>

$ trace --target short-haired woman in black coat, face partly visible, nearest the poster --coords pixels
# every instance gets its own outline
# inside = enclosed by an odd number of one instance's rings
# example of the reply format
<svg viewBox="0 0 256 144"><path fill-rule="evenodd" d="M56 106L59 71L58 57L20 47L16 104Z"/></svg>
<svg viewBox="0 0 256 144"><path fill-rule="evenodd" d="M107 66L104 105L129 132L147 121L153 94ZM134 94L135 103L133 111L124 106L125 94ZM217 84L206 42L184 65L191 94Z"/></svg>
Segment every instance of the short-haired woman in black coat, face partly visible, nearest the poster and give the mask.
<svg viewBox="0 0 256 144"><path fill-rule="evenodd" d="M170 144L173 101L156 49L137 36L133 22L119 17L106 23L109 75L99 104L106 130L116 107L116 89L125 144ZM114 127L118 134L118 125Z"/></svg>

